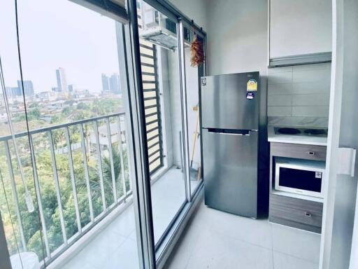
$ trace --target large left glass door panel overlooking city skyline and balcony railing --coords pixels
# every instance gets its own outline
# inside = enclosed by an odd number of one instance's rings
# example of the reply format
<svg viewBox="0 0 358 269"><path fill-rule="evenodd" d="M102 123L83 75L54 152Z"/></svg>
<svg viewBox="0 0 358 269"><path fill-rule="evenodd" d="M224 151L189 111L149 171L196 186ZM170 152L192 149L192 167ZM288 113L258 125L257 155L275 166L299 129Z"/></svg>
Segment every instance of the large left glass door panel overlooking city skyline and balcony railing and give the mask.
<svg viewBox="0 0 358 269"><path fill-rule="evenodd" d="M138 268L121 25L73 1L18 3L23 79L13 1L0 10L6 25L0 55L18 146L16 152L8 120L1 120L0 209L10 255L31 252L57 268Z"/></svg>

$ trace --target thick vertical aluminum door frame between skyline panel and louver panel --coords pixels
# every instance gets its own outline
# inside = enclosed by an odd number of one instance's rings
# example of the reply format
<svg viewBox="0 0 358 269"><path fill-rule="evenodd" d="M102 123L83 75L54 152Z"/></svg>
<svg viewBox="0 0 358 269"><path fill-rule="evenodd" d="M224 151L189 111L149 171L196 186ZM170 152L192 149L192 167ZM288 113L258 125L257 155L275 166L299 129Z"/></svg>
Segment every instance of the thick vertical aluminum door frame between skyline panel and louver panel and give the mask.
<svg viewBox="0 0 358 269"><path fill-rule="evenodd" d="M152 222L152 199L150 193L150 172L148 149L145 141L145 113L143 99L143 83L141 76L141 53L139 50L139 34L136 0L127 1L129 24L120 29L119 41L125 48L129 109L133 127L131 139L133 144L134 174L132 182L134 192L134 209L136 214L136 235L141 269L155 269L155 245ZM120 55L118 55L120 57ZM122 68L120 68L121 70ZM121 80L122 83L122 80Z"/></svg>

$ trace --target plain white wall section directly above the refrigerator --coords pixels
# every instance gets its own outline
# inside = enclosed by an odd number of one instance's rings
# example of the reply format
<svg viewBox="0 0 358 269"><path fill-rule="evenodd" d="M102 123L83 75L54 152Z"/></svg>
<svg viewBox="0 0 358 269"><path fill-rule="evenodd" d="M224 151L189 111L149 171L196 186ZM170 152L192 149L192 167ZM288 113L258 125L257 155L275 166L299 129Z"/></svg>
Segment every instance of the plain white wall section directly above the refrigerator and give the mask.
<svg viewBox="0 0 358 269"><path fill-rule="evenodd" d="M260 71L267 66L267 0L207 1L208 74Z"/></svg>

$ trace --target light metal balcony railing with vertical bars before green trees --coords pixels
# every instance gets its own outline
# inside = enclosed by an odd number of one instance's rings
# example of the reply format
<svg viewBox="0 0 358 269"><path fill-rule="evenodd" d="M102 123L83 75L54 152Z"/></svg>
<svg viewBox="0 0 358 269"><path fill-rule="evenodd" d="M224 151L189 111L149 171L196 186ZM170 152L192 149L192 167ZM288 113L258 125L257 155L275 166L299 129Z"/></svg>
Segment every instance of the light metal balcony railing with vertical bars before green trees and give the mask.
<svg viewBox="0 0 358 269"><path fill-rule="evenodd" d="M27 170L32 174L27 173L27 184L33 184L36 196L32 214L41 220L37 232L41 232L42 254L37 254L42 261L59 256L131 194L124 123L125 114L114 113L15 135L22 159L31 156ZM22 251L36 252L36 230L26 230L31 224L24 223L24 216L31 213L24 207L24 193L19 193L20 167L14 161L12 137L0 137L1 144L6 159L2 167L8 170L15 229L20 237L17 241ZM45 171L46 163L52 167L47 168L50 171ZM51 187L45 187L49 182Z"/></svg>

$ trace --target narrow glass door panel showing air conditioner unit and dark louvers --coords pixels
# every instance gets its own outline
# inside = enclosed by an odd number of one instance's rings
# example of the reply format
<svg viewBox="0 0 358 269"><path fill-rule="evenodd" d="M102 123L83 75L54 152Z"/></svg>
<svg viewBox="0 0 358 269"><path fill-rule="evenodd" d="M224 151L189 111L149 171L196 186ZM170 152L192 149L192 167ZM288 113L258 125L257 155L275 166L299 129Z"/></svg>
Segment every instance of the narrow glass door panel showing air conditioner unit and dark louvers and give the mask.
<svg viewBox="0 0 358 269"><path fill-rule="evenodd" d="M177 23L138 3L143 97L155 244L185 202Z"/></svg>

